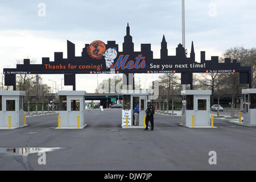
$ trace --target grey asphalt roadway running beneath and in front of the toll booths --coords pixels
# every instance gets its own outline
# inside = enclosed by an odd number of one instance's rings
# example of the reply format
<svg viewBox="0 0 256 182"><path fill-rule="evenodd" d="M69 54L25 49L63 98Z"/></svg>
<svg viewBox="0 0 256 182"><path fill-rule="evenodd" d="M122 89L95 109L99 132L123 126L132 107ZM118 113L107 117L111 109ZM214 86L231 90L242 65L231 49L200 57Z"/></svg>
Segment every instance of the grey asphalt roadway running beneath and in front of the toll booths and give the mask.
<svg viewBox="0 0 256 182"><path fill-rule="evenodd" d="M121 129L121 109L86 111L83 130L55 130L57 114L0 130L0 147L67 147L23 158L0 154L0 170L256 170L255 128L214 119L217 129L188 129L180 117L155 114L155 130ZM209 151L217 165L209 165ZM27 166L30 166L29 168Z"/></svg>

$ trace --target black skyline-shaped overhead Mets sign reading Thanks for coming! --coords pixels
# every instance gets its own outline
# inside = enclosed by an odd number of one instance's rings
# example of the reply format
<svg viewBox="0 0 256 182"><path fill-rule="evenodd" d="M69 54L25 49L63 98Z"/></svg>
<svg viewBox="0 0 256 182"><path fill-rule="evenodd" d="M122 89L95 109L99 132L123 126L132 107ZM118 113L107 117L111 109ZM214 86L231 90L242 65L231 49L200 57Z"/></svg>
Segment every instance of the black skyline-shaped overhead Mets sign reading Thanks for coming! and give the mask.
<svg viewBox="0 0 256 182"><path fill-rule="evenodd" d="M75 90L76 74L101 73L181 73L181 84L192 85L192 73L225 73L240 72L240 83L249 84L251 88L251 67L241 67L237 60L225 58L219 63L218 56L205 60L205 52L201 51L200 62L195 61L195 51L192 42L190 57L187 57L181 44L176 48L175 56L168 56L167 42L163 36L160 49L160 59L153 59L151 44L141 44L141 51L134 51L134 43L127 24L123 42L123 51L118 51L115 41L106 44L95 40L85 44L81 56L75 56L75 44L67 40L67 58L63 52L55 52L54 60L42 57L42 64L30 64L24 59L23 64L16 68L4 68L5 85L13 85L15 90L16 74L64 74L65 85L73 85Z"/></svg>

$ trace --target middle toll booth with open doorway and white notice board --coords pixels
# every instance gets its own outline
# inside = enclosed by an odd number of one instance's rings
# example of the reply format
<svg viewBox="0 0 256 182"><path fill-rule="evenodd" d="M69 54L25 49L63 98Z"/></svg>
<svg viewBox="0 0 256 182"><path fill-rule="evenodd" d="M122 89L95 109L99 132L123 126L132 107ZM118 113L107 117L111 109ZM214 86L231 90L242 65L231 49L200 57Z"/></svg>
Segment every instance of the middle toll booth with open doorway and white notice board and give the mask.
<svg viewBox="0 0 256 182"><path fill-rule="evenodd" d="M144 115L146 115L148 92L146 90L122 90L122 128L126 127L126 115L128 115L128 128L143 128ZM138 123L135 125L134 108L139 104Z"/></svg>

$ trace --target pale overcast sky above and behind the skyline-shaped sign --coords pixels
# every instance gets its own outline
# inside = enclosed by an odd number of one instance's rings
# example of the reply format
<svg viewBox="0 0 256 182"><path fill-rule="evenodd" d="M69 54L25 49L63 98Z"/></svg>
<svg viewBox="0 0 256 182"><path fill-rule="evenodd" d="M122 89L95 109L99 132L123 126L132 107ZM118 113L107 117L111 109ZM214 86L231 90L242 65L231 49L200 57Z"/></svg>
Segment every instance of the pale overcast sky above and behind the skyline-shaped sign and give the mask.
<svg viewBox="0 0 256 182"><path fill-rule="evenodd" d="M46 5L42 11L40 3ZM196 61L200 51L210 56L222 56L230 47L255 47L256 1L185 0L185 46L190 52L193 40ZM44 15L45 12L45 16ZM40 15L40 16L39 16ZM151 43L154 57L160 57L163 34L168 54L175 55L181 43L181 0L151 1L3 1L0 0L0 63L2 68L15 68L16 60L27 57L42 63L42 57L53 60L54 52L67 57L67 39L76 44L76 56L81 56L85 43L93 40L115 40L122 49L123 36L129 22L135 51L141 43ZM98 75L99 82L110 75ZM158 75L135 75L141 84ZM61 84L63 75L43 75ZM84 80L86 79L86 80ZM94 92L97 75L77 75L77 90ZM59 85L60 88L60 85ZM65 86L64 89L71 89Z"/></svg>

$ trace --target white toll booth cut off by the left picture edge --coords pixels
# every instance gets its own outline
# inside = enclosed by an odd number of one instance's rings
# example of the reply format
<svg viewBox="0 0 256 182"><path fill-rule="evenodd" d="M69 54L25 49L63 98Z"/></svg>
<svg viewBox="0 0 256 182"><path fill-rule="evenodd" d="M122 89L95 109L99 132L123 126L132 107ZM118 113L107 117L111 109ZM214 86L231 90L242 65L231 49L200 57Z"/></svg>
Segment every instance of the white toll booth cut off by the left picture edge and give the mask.
<svg viewBox="0 0 256 182"><path fill-rule="evenodd" d="M0 91L0 129L27 126L24 123L24 91Z"/></svg>

